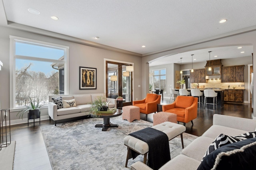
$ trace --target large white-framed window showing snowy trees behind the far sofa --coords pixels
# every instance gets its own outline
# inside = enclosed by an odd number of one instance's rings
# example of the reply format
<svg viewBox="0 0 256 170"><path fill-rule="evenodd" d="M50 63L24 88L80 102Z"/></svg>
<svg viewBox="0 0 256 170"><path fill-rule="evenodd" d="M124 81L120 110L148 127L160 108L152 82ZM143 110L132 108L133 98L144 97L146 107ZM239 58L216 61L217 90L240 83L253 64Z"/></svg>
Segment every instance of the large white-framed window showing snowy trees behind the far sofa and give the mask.
<svg viewBox="0 0 256 170"><path fill-rule="evenodd" d="M68 47L10 36L10 107L67 94Z"/></svg>

